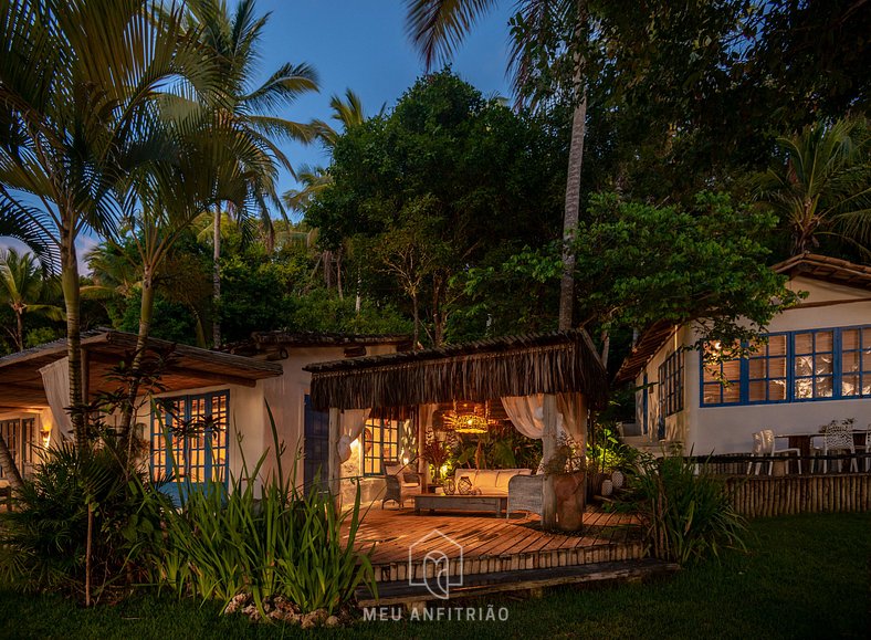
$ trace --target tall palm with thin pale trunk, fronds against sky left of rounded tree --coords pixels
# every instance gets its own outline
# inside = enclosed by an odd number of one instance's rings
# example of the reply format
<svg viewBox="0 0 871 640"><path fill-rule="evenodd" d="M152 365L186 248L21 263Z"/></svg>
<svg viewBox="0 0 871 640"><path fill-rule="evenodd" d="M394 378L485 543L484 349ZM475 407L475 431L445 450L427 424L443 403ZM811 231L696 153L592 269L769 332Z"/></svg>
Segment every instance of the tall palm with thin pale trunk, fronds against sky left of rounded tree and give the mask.
<svg viewBox="0 0 871 640"><path fill-rule="evenodd" d="M269 21L269 13L258 15L254 0L241 0L231 13L225 0L190 0L189 22L199 30L200 42L217 56L221 70L223 102L219 115L232 123L240 137L260 149L258 162L241 172L249 179L249 196L266 225L271 202L282 213L281 200L275 190L279 167L293 171L290 160L275 140L309 143L314 130L309 125L266 115L292 104L301 94L317 91L317 74L307 64L285 63L279 66L260 86L254 86L259 62L259 45ZM239 214L241 211L233 211ZM214 302L221 297L221 216L213 217ZM221 325L216 314L212 326L214 346L221 344Z"/></svg>

